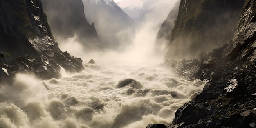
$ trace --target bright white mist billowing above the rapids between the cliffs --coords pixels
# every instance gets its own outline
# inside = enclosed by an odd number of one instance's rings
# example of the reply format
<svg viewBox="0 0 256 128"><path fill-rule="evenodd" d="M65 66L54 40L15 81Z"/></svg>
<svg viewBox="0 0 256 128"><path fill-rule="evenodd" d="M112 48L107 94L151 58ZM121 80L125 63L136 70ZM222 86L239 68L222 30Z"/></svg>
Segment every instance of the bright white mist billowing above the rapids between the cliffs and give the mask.
<svg viewBox="0 0 256 128"><path fill-rule="evenodd" d="M105 49L93 49L86 50L79 43L79 36L70 37L64 40L61 40L59 47L64 51L69 51L72 56L81 57L84 62L88 62L90 59L94 61L122 61L126 63L162 63L164 61L165 49L157 49L155 47L155 38L159 27L162 25L162 22L167 17L169 11L174 7L176 0L173 0L173 4L165 7L158 7L151 9L148 13L144 14L143 21L137 21L133 26L133 35L131 42L127 44L126 41L119 42L117 49L109 49L108 46ZM159 9L161 8L161 9ZM107 16L108 17L108 16ZM100 17L98 18L100 19ZM101 26L104 24L101 24ZM105 24L103 28L108 27L108 24ZM111 27L113 27L112 25ZM95 24L96 27L96 24ZM119 26L117 26L118 28ZM97 28L97 27L96 27ZM116 29L117 29L116 28ZM112 28L115 29L115 28ZM112 35L113 37L122 37L126 36L127 32L130 30L124 29L123 31L117 33L117 35ZM121 34L120 34L121 33ZM110 34L115 34L111 33ZM121 35L121 36L120 36ZM110 39L112 40L112 39ZM117 45L116 42L105 44L105 45Z"/></svg>

